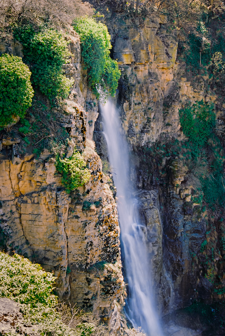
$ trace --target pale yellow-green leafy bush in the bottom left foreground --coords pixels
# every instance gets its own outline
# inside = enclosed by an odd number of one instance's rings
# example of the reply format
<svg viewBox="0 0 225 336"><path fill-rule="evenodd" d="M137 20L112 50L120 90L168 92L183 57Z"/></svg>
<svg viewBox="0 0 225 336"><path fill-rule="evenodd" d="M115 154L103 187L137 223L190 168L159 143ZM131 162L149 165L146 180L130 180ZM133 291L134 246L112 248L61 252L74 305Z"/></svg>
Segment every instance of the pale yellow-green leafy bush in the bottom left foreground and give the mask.
<svg viewBox="0 0 225 336"><path fill-rule="evenodd" d="M93 323L80 323L74 326L76 330L63 323L58 297L52 292L54 281L53 274L39 264L0 252L0 297L21 304L25 324L36 325L42 336L90 336L95 330ZM64 310L63 320L71 321L71 313L65 306Z"/></svg>

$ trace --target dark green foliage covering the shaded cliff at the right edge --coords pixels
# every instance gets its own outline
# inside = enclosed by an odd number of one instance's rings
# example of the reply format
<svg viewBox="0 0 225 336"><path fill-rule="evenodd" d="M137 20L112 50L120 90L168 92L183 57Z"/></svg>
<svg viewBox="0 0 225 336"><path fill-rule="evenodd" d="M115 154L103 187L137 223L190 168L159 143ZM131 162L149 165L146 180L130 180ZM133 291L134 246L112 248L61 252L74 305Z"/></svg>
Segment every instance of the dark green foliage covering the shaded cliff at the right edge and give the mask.
<svg viewBox="0 0 225 336"><path fill-rule="evenodd" d="M204 201L214 211L224 203L225 187L224 151L220 139L214 133L216 119L213 108L212 103L205 105L200 101L193 107L180 110L179 116L182 130L190 141L192 165L197 167L201 162L195 173L201 182L198 194L204 194Z"/></svg>

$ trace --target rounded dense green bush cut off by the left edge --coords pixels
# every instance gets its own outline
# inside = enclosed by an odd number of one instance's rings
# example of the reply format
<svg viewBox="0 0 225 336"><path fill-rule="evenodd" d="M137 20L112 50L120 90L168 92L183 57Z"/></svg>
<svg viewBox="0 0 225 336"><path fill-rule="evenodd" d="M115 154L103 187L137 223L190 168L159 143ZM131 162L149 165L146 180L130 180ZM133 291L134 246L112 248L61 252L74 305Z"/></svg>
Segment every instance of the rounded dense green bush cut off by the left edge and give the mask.
<svg viewBox="0 0 225 336"><path fill-rule="evenodd" d="M0 126L22 118L31 106L34 91L31 72L21 57L4 54L0 57Z"/></svg>

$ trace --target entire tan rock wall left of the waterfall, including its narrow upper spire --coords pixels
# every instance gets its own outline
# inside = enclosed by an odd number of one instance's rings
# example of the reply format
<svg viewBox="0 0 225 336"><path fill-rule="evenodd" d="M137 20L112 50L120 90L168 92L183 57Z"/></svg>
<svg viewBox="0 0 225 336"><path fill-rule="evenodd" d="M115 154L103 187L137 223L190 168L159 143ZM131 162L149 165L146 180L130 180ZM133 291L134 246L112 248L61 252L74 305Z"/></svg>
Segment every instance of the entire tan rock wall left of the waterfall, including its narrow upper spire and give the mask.
<svg viewBox="0 0 225 336"><path fill-rule="evenodd" d="M63 72L74 79L74 86L66 100L66 111L51 110L52 126L66 130L70 139L66 157L71 157L74 150L81 152L91 178L69 196L52 153L44 148L37 157L27 146L21 155L21 135L12 137L6 130L0 145L1 248L53 271L57 277L55 290L61 299L93 311L100 321L120 333L125 326L121 315L125 285L117 208L90 140L98 108L82 70L79 38L72 32L67 39L73 57L63 65ZM1 52L23 57L18 41L12 39L10 45L3 41Z"/></svg>

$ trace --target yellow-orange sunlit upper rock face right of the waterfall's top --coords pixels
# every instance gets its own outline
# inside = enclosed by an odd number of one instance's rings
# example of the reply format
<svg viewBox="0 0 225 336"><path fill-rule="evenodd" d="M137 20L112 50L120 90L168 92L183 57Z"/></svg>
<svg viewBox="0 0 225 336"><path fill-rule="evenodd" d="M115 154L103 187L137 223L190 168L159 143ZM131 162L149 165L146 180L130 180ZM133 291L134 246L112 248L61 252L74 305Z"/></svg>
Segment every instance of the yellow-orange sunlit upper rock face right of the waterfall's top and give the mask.
<svg viewBox="0 0 225 336"><path fill-rule="evenodd" d="M121 70L114 100L127 140L132 146L155 142L161 134L182 140L179 109L186 101L207 99L204 81L195 89L185 78L185 63L176 59L178 30L166 30L165 16L137 20L105 22ZM101 153L100 133L95 141Z"/></svg>

